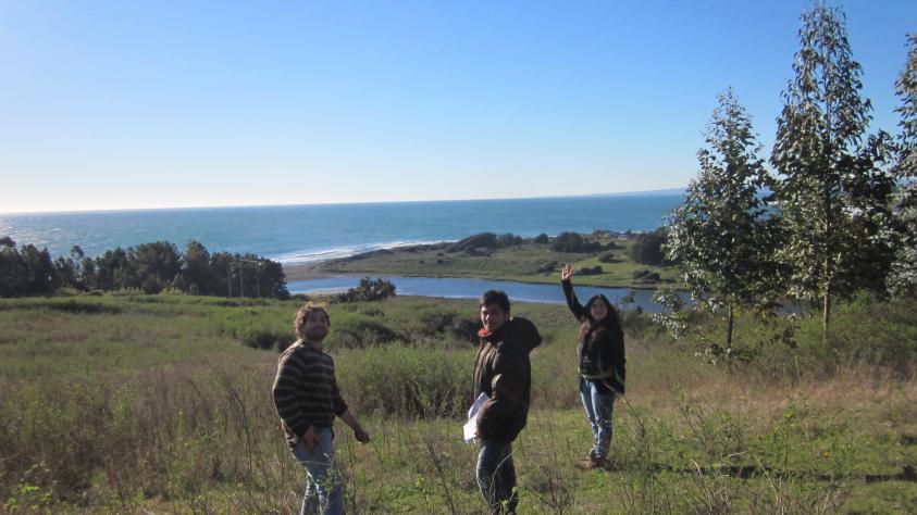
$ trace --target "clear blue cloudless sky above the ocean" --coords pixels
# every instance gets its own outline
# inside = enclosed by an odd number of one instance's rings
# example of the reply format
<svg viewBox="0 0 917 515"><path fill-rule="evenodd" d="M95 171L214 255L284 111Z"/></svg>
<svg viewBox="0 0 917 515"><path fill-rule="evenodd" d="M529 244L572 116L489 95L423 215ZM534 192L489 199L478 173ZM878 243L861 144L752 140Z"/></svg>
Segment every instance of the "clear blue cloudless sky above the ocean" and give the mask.
<svg viewBox="0 0 917 515"><path fill-rule="evenodd" d="M896 131L917 1L830 4ZM729 86L769 155L810 5L0 0L0 212L683 187Z"/></svg>

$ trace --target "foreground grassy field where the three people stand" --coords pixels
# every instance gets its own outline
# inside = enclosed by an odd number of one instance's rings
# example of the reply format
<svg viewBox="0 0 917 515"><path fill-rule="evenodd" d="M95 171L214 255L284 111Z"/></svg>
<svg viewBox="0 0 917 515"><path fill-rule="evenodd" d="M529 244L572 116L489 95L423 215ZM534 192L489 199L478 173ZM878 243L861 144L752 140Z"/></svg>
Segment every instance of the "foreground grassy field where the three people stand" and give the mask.
<svg viewBox="0 0 917 515"><path fill-rule="evenodd" d="M515 445L525 513L914 513L913 303L840 306L791 346L741 319L749 363L711 365L625 315L628 395L614 469L582 466L577 325L519 304L533 351L533 411ZM9 513L295 513L305 473L270 400L295 301L111 296L0 301L0 505ZM348 513L482 513L471 397L471 301L333 304L329 350L373 436L337 426ZM261 349L261 347L265 349Z"/></svg>

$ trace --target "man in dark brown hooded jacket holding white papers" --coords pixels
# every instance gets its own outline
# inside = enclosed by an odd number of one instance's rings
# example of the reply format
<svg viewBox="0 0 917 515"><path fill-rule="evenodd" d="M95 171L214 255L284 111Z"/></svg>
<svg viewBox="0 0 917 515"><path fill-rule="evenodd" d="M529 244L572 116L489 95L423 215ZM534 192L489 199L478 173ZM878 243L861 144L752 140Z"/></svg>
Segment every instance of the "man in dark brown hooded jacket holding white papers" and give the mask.
<svg viewBox="0 0 917 515"><path fill-rule="evenodd" d="M525 427L532 389L529 352L542 342L535 326L510 318L509 298L500 290L481 297L481 347L474 359L474 397L487 395L478 412L478 486L492 513L516 513L512 441Z"/></svg>

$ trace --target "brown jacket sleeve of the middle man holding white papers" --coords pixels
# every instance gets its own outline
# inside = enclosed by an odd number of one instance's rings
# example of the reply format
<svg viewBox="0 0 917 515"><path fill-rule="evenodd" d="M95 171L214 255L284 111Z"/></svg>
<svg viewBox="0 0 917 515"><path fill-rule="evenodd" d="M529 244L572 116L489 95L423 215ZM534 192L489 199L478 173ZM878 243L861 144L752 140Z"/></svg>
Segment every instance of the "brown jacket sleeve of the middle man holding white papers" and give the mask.
<svg viewBox="0 0 917 515"><path fill-rule="evenodd" d="M499 352L494 357L491 399L481 406L478 415L479 435L487 438L522 402L529 366L528 355L517 349Z"/></svg>

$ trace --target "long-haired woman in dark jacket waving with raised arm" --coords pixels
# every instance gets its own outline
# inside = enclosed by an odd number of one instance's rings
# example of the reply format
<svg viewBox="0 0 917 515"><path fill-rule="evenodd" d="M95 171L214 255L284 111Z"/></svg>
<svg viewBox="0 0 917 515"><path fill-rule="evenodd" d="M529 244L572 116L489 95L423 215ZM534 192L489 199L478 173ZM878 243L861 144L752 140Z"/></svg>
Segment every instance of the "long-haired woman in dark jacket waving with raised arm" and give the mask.
<svg viewBox="0 0 917 515"><path fill-rule="evenodd" d="M582 324L577 347L580 395L594 439L588 466L599 468L607 463L611 443L615 397L624 393L624 331L618 312L605 296L596 293L585 306L580 304L570 281L572 275L573 266L567 263L560 272L560 285L567 306Z"/></svg>

